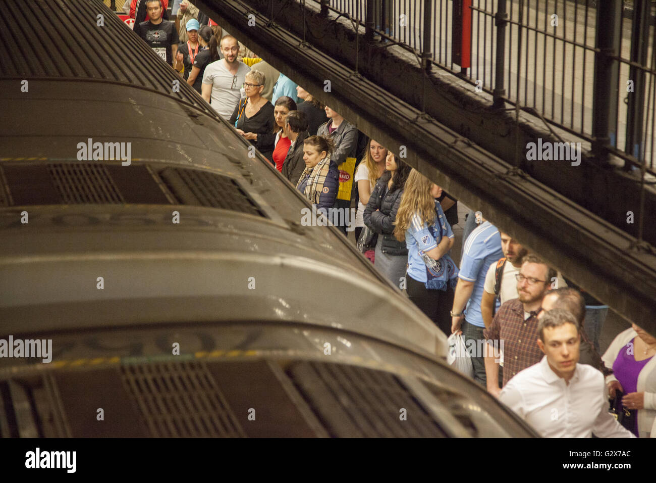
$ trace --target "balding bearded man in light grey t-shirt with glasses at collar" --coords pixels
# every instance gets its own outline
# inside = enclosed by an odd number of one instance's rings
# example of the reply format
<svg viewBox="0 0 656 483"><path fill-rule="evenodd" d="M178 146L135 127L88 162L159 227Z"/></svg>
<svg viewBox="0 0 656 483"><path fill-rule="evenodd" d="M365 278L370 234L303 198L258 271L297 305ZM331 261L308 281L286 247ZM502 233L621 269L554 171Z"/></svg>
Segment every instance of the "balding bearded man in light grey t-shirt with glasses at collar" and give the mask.
<svg viewBox="0 0 656 483"><path fill-rule="evenodd" d="M219 116L229 120L241 99L241 85L251 68L237 60L239 43L232 35L221 39L221 53L222 59L205 68L201 93Z"/></svg>

